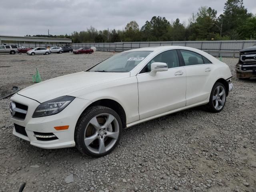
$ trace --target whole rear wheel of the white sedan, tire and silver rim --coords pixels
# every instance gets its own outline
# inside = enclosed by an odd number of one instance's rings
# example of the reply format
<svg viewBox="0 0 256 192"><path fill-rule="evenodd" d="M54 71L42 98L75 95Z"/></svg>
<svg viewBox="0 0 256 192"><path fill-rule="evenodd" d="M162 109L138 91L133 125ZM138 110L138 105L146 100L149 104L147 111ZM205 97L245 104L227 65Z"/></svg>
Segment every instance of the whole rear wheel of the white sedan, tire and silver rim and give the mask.
<svg viewBox="0 0 256 192"><path fill-rule="evenodd" d="M226 93L225 86L220 82L216 82L212 87L207 110L212 113L220 112L226 104Z"/></svg>

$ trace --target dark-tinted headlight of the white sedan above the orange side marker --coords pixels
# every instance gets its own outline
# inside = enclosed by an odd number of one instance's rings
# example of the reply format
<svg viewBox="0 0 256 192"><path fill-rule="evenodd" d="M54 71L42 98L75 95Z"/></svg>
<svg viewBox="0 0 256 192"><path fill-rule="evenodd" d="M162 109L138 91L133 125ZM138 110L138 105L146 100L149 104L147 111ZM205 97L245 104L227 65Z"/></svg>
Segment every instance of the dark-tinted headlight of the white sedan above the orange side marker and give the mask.
<svg viewBox="0 0 256 192"><path fill-rule="evenodd" d="M57 114L61 112L70 102L74 100L72 96L62 96L58 97L44 103L41 103L35 110L32 118L44 117Z"/></svg>

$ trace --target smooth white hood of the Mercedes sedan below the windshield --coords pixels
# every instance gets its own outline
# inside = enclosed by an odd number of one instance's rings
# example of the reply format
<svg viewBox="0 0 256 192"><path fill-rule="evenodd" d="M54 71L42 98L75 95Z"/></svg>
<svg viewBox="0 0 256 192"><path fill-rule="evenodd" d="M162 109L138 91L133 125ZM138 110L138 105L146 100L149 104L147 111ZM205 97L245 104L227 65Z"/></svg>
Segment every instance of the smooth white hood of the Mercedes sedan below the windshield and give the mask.
<svg viewBox="0 0 256 192"><path fill-rule="evenodd" d="M18 94L34 99L40 103L66 96L78 90L98 84L130 77L130 72L78 72L52 78L22 89Z"/></svg>

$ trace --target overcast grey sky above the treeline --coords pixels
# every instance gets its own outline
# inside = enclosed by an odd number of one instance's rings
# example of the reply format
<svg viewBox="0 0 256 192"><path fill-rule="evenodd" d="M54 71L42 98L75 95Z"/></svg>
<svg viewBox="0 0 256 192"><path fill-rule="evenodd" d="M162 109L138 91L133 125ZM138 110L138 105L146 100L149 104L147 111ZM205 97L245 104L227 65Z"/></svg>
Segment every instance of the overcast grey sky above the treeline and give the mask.
<svg viewBox="0 0 256 192"><path fill-rule="evenodd" d="M208 6L223 12L226 0L1 0L0 35L71 34L90 26L124 29L131 20L141 28L152 16L188 22L192 12ZM255 0L244 0L256 14Z"/></svg>

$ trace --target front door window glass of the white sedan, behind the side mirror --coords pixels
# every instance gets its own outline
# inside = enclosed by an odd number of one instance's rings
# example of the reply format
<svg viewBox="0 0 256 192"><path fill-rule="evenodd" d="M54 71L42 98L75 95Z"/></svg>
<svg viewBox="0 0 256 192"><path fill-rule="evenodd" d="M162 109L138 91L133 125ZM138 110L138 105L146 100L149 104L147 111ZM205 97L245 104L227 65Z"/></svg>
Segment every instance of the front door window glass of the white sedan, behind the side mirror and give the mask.
<svg viewBox="0 0 256 192"><path fill-rule="evenodd" d="M179 67L179 58L176 50L169 50L162 52L155 56L148 64L140 71L140 73L146 73L151 71L151 64L154 62L166 63L168 68Z"/></svg>

